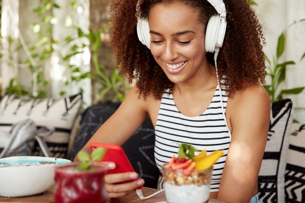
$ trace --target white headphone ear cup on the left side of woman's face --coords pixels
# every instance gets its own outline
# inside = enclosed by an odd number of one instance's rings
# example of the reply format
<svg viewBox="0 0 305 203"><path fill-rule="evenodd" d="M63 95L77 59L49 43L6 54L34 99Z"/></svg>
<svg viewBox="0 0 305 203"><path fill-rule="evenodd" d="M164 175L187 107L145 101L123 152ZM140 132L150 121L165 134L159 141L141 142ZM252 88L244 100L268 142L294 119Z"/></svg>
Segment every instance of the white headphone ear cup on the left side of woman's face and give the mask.
<svg viewBox="0 0 305 203"><path fill-rule="evenodd" d="M144 44L149 49L151 49L151 35L149 31L150 29L149 29L148 20L139 18L136 25L136 32L138 38L140 42L142 42L142 44Z"/></svg>

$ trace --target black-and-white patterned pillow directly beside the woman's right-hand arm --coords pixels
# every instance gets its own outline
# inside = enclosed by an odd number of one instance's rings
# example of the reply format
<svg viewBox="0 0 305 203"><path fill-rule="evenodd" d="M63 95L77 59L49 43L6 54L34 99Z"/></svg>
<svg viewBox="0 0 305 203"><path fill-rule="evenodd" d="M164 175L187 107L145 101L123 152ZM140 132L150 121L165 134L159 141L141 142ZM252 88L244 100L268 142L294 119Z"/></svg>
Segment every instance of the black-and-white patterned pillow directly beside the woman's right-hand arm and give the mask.
<svg viewBox="0 0 305 203"><path fill-rule="evenodd" d="M290 99L271 105L267 145L258 177L260 203L285 203L284 177L292 114Z"/></svg>

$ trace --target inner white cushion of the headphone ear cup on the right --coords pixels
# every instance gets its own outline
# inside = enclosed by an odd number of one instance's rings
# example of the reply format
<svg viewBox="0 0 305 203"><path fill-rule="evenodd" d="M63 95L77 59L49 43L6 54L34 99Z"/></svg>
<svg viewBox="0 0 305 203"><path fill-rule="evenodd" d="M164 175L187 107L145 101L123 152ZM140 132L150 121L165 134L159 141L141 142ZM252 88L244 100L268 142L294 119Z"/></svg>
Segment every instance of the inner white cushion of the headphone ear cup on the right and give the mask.
<svg viewBox="0 0 305 203"><path fill-rule="evenodd" d="M219 15L212 16L207 24L206 38L205 38L206 52L213 53L215 50L219 18L220 18Z"/></svg>

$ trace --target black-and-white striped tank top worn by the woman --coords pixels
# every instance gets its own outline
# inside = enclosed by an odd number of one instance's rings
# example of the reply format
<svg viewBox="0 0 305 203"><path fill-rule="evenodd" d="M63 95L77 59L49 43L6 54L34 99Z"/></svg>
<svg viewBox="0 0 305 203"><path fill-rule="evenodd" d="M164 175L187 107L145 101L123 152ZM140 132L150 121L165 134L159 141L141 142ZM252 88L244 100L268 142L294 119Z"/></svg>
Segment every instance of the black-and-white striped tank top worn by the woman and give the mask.
<svg viewBox="0 0 305 203"><path fill-rule="evenodd" d="M173 155L177 156L178 144L181 143L191 144L200 151L205 149L207 154L214 150L224 150L225 155L213 166L210 191L217 192L231 141L231 133L221 108L223 105L225 113L228 96L225 90L221 90L221 96L217 85L208 109L199 116L189 117L177 109L169 91L167 89L162 95L155 126L154 157L157 167L161 171L162 165L170 162ZM198 153L195 152L195 155ZM162 176L159 177L158 187L163 188Z"/></svg>

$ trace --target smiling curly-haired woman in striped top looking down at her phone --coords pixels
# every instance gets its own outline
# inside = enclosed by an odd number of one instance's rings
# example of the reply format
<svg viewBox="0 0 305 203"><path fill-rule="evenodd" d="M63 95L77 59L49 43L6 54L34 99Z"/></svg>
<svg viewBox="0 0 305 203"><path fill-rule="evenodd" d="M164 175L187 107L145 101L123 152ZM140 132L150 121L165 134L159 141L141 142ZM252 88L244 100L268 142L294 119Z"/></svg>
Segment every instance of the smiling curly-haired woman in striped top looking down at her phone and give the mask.
<svg viewBox="0 0 305 203"><path fill-rule="evenodd" d="M214 1L114 3L111 45L122 74L136 85L83 150L89 150L90 142L122 145L149 116L159 168L177 153L176 143L191 143L208 152L223 149L225 156L214 165L210 198L255 202L270 114L269 96L261 85L264 38L246 0L224 0L225 6L215 8ZM216 46L206 40L213 29L208 34L208 21L215 15L219 29L227 28L218 34ZM148 19L149 34L137 33L138 19ZM138 31L143 28L138 26ZM107 175L110 197L124 196L144 184L136 178L136 173ZM134 181L120 183L126 180Z"/></svg>

